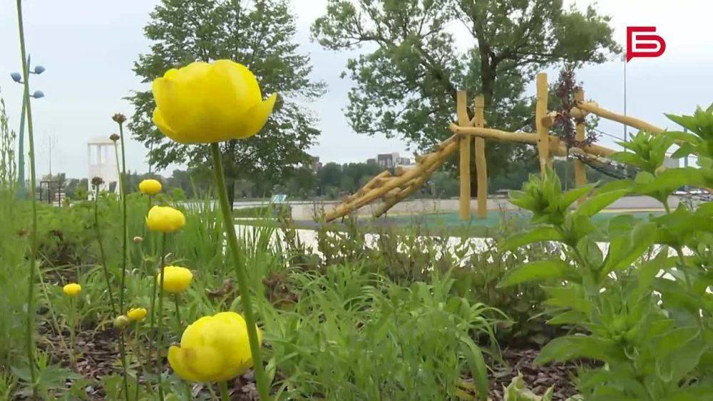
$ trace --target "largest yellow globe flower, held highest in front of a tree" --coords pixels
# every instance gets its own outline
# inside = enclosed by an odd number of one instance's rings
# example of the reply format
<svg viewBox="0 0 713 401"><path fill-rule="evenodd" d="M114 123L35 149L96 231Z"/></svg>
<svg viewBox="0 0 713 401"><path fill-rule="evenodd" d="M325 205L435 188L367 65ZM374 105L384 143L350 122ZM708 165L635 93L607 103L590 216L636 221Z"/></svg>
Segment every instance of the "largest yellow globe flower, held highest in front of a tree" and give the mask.
<svg viewBox="0 0 713 401"><path fill-rule="evenodd" d="M153 122L180 143L213 143L255 135L275 106L262 100L255 75L242 64L217 60L172 68L153 81Z"/></svg>

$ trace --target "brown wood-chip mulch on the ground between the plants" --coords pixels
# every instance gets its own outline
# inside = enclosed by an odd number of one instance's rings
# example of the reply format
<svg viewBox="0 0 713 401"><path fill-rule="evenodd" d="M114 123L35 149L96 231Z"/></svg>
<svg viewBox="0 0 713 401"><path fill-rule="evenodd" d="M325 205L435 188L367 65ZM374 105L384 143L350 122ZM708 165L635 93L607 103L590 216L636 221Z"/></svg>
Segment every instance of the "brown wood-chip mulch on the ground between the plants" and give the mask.
<svg viewBox="0 0 713 401"><path fill-rule="evenodd" d="M66 345L69 333L57 335L46 320L39 328L41 340L39 348L51 355L52 362L60 363L63 367L74 370L89 380L101 380L105 375L120 374L119 352L117 347L118 333L113 328L105 330L78 330L76 336L76 368L69 365L69 356ZM145 348L144 348L145 349ZM575 395L575 387L571 378L574 376L577 365L553 363L547 366L534 364L538 350L532 349L505 349L502 352L504 364L488 361L493 366L489 378L489 397L493 401L503 400L503 387L507 387L518 374L523 375L523 380L528 388L535 394L542 395L549 387L554 386L553 400L566 400ZM205 392L202 385L193 387L194 394ZM103 400L104 392L100 385L88 385L87 395L91 400ZM252 372L238 377L232 383L232 400L257 401L257 390L253 381Z"/></svg>

